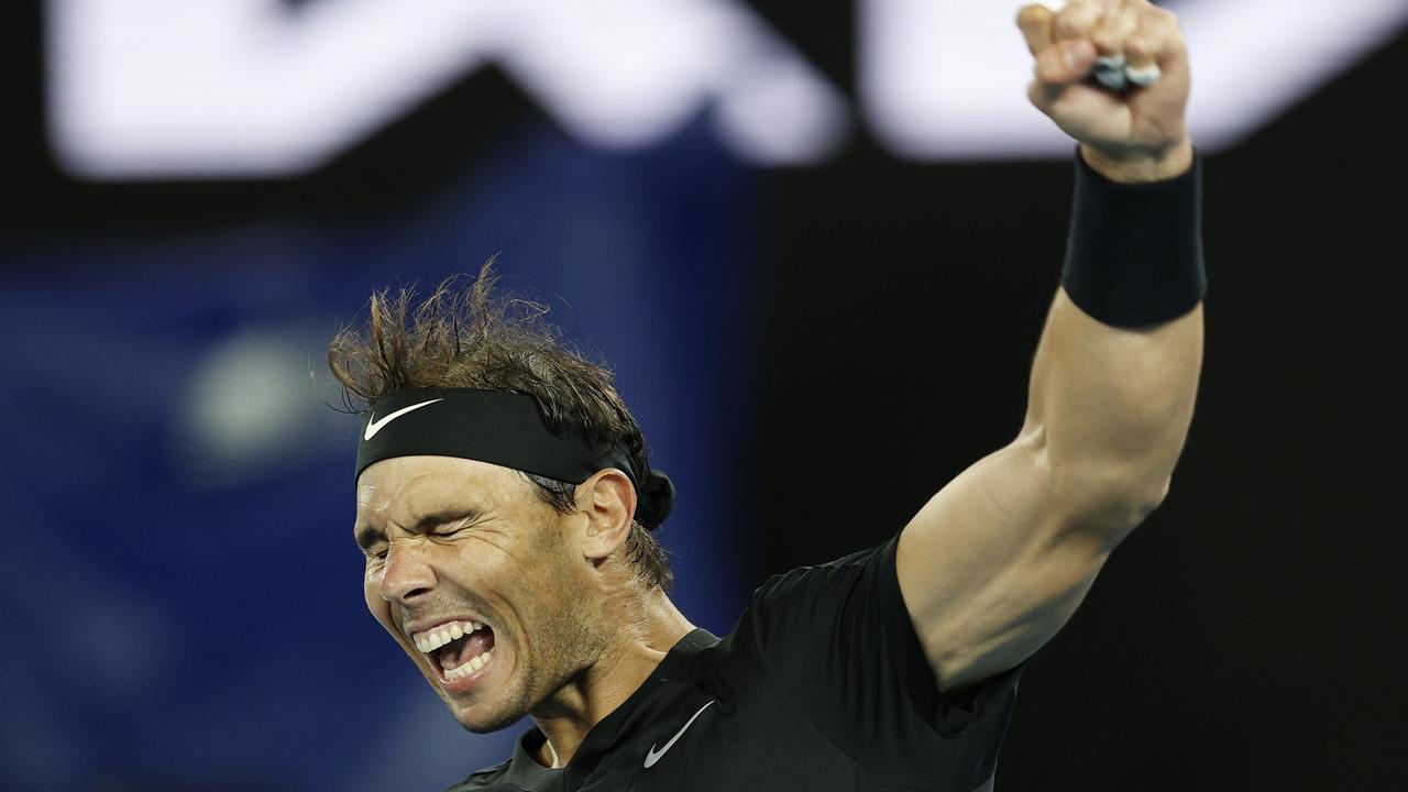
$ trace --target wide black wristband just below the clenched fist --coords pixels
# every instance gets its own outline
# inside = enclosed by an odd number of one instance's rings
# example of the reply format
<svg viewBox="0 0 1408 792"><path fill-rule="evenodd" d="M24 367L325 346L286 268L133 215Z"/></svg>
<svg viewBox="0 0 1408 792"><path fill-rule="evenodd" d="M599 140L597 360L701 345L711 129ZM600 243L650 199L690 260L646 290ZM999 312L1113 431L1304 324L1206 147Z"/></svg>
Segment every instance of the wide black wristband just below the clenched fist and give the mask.
<svg viewBox="0 0 1408 792"><path fill-rule="evenodd" d="M1202 161L1163 182L1124 185L1076 151L1076 197L1062 286L1114 327L1177 318L1207 295L1202 264Z"/></svg>

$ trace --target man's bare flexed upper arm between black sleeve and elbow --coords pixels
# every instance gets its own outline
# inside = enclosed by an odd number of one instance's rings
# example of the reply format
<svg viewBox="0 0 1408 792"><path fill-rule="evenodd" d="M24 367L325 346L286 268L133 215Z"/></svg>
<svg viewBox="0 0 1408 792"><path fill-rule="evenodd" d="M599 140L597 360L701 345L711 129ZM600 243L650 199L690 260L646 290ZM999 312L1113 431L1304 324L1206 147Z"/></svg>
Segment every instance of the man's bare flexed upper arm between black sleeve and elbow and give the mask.
<svg viewBox="0 0 1408 792"><path fill-rule="evenodd" d="M900 536L905 609L941 691L1007 671L1066 624L1136 521L1053 475L1041 430L984 457Z"/></svg>

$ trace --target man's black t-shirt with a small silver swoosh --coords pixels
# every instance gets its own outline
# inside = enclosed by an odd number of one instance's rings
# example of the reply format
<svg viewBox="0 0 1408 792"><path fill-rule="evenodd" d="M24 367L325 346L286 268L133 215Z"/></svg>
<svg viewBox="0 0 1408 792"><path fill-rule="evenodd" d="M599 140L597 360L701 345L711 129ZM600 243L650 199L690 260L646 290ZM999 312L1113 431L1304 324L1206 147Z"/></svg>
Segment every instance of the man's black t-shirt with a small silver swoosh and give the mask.
<svg viewBox="0 0 1408 792"><path fill-rule="evenodd" d="M897 544L769 579L727 637L681 638L565 768L532 758L529 729L451 792L990 791L1025 664L941 696Z"/></svg>

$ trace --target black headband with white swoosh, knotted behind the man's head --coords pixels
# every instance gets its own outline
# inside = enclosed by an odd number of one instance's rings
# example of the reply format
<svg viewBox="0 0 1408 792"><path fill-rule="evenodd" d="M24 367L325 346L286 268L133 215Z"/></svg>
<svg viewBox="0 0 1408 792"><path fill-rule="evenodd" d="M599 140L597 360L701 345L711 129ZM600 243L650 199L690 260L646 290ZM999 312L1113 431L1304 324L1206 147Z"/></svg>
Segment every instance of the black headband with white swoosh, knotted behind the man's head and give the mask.
<svg viewBox="0 0 1408 792"><path fill-rule="evenodd" d="M625 474L636 492L636 520L653 528L670 514L674 485L663 471L635 469L618 447L548 428L538 400L507 390L413 388L377 399L356 450L356 475L393 457L459 457L582 483L600 469Z"/></svg>

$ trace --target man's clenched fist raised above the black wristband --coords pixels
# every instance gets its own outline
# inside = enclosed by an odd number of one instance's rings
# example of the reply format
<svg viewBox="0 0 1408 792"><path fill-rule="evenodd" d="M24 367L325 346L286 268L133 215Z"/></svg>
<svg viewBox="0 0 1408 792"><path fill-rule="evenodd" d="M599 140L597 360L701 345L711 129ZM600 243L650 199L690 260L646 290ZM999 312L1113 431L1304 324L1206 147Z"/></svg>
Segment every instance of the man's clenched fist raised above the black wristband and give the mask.
<svg viewBox="0 0 1408 792"><path fill-rule="evenodd" d="M1060 11L1025 6L1017 24L1036 56L1028 97L1080 141L1086 162L1121 182L1187 171L1193 144L1184 110L1191 76L1171 11L1148 0L1070 0ZM1131 73L1159 78L1112 90L1088 79L1104 56L1124 56Z"/></svg>

